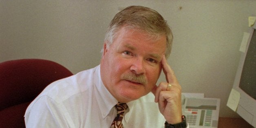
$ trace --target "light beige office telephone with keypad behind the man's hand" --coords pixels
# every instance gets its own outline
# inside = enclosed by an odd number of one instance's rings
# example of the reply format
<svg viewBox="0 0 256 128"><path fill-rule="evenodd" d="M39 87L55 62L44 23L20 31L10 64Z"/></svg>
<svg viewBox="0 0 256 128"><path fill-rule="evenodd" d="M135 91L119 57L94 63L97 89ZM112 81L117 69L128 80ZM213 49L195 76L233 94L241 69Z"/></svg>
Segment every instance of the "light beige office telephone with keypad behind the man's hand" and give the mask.
<svg viewBox="0 0 256 128"><path fill-rule="evenodd" d="M182 94L182 112L190 128L217 128L221 100L189 96Z"/></svg>

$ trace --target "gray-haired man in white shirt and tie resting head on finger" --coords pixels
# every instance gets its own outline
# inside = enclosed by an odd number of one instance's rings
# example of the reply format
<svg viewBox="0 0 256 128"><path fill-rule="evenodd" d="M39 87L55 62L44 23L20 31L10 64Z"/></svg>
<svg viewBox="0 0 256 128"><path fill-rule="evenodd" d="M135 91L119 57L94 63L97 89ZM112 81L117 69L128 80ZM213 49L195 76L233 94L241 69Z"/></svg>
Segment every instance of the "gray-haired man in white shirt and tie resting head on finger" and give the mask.
<svg viewBox="0 0 256 128"><path fill-rule="evenodd" d="M185 128L171 45L159 13L127 7L110 22L101 64L46 87L27 108L26 127ZM166 82L157 86L162 69Z"/></svg>

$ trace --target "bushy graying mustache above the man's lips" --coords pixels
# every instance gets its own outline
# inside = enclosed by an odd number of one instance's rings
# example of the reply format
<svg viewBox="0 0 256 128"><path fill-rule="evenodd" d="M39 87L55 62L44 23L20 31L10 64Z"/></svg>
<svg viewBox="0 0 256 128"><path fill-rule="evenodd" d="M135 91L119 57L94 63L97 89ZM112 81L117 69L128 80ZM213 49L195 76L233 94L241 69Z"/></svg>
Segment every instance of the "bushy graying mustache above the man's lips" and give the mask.
<svg viewBox="0 0 256 128"><path fill-rule="evenodd" d="M146 77L144 75L136 75L134 73L123 74L121 76L121 78L129 80L131 82L140 83L140 84L143 84L143 85L146 85L148 83L147 80L146 80Z"/></svg>

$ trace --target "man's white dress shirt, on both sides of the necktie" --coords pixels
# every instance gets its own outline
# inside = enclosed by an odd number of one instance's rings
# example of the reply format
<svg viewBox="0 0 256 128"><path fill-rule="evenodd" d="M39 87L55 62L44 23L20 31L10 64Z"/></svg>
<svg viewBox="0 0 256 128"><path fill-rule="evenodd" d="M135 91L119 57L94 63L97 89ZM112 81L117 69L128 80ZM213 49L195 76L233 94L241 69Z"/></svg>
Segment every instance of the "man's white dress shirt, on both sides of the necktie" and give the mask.
<svg viewBox="0 0 256 128"><path fill-rule="evenodd" d="M100 77L100 65L47 86L24 115L26 128L110 128L117 100ZM128 102L124 128L164 128L154 95Z"/></svg>

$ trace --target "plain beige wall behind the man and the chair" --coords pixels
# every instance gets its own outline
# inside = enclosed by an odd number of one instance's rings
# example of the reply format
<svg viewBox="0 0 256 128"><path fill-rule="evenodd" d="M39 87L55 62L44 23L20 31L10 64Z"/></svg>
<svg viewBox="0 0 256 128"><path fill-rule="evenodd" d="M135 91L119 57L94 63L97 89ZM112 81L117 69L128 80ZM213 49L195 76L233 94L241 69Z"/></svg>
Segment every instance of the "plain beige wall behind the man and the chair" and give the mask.
<svg viewBox="0 0 256 128"><path fill-rule="evenodd" d="M226 102L255 0L0 0L0 62L42 58L73 73L92 68L108 23L129 5L150 7L168 20L174 33L168 61L183 92L221 98L220 116L238 117Z"/></svg>

